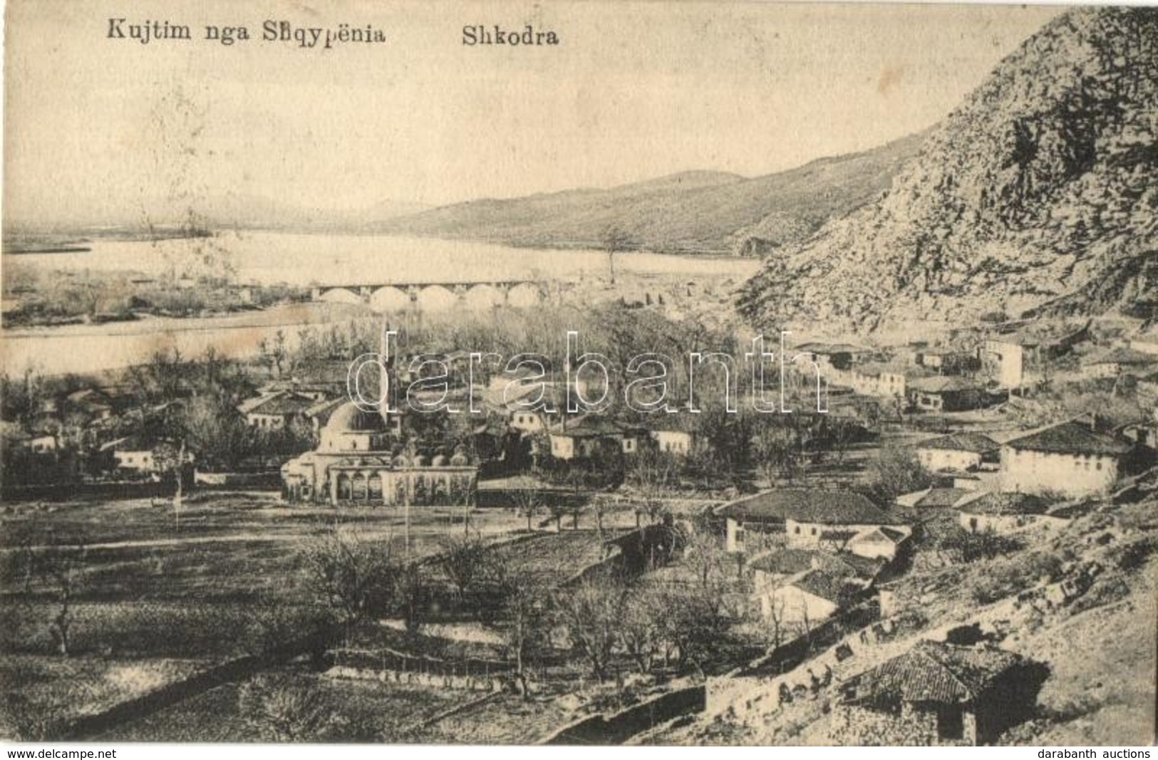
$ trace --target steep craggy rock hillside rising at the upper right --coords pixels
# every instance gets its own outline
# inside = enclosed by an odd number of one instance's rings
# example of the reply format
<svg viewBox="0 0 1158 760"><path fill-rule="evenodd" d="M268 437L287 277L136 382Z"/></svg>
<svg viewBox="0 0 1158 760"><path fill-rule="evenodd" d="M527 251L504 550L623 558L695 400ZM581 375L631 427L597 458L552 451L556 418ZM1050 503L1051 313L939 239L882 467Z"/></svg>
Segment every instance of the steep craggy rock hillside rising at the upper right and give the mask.
<svg viewBox="0 0 1158 760"><path fill-rule="evenodd" d="M1158 305L1158 9L1046 25L928 136L875 202L770 257L761 326L867 332L987 311Z"/></svg>

